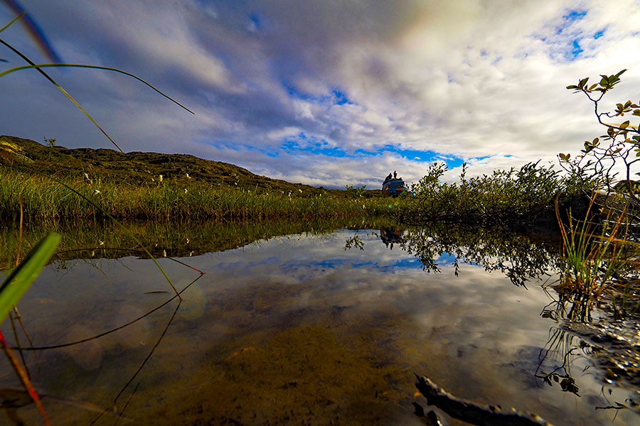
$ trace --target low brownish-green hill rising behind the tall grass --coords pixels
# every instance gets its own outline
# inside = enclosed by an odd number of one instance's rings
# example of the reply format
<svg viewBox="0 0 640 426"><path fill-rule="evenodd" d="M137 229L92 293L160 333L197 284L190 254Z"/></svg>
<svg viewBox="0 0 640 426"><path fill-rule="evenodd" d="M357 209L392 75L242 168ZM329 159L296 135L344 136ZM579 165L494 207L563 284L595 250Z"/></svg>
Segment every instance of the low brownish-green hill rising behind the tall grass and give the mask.
<svg viewBox="0 0 640 426"><path fill-rule="evenodd" d="M343 190L326 190L302 183L256 175L245 168L220 161L203 160L193 155L132 152L112 149L65 148L43 146L30 139L0 136L0 165L22 165L39 173L62 178L69 175L92 179L117 180L139 185L151 179L169 181L206 181L213 185L240 187L247 190L293 192L313 196L322 192L343 195ZM380 191L367 191L376 195Z"/></svg>

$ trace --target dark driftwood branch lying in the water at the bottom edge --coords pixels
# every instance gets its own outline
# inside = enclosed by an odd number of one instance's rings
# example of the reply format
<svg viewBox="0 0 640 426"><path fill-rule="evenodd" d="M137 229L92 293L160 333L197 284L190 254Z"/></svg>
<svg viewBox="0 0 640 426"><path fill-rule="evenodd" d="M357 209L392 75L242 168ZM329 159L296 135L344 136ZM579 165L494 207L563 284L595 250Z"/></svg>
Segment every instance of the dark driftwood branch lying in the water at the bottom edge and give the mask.
<svg viewBox="0 0 640 426"><path fill-rule="evenodd" d="M427 403L451 417L477 426L553 426L539 415L515 408L503 410L499 405L481 405L457 398L425 376L417 376L415 387L425 395Z"/></svg>

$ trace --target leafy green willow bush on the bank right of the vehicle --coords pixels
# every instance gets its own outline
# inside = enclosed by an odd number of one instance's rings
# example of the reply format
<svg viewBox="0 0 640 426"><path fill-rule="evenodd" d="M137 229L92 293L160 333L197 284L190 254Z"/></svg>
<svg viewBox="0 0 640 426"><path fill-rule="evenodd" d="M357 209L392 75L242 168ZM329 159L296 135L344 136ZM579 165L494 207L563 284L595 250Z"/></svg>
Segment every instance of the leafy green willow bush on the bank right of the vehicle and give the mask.
<svg viewBox="0 0 640 426"><path fill-rule="evenodd" d="M585 188L575 177L540 161L473 178L466 178L466 169L465 163L459 182L447 183L441 180L447 166L434 163L405 195L400 217L420 223L532 224L554 218L556 197L564 204ZM593 189L595 182L588 180L587 185Z"/></svg>

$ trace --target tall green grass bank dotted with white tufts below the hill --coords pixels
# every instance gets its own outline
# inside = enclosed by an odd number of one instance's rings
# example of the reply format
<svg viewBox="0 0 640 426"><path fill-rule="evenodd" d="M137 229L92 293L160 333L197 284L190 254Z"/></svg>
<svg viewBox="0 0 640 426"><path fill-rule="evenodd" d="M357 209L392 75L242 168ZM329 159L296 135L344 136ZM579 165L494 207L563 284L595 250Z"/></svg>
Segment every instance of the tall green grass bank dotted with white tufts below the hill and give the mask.
<svg viewBox="0 0 640 426"><path fill-rule="evenodd" d="M64 185L62 185L64 184ZM66 186L65 186L66 185ZM73 192L69 188L78 193ZM369 217L389 210L383 198L338 197L302 189L265 190L220 187L192 179L153 180L139 185L85 175L60 178L0 168L0 217L41 222L99 219L250 220Z"/></svg>

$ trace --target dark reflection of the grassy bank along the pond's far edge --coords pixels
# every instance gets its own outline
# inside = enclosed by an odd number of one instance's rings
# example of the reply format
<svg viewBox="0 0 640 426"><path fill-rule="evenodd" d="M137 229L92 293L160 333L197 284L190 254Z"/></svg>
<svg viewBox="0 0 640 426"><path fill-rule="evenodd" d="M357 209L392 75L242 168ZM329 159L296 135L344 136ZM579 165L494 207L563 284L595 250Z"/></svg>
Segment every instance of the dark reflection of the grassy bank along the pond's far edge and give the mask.
<svg viewBox="0 0 640 426"><path fill-rule="evenodd" d="M262 220L247 222L164 222L136 221L126 226L154 256L198 256L212 251L236 249L261 239L291 234L325 234L344 227L380 228L388 226L390 219L369 218L362 222L355 219L326 219L309 221ZM55 259L117 258L122 256L146 256L134 251L137 243L111 221L82 224L48 224L46 230L62 234ZM15 262L17 229L9 224L0 226L0 267ZM30 249L43 233L43 226L26 224L22 246ZM105 250L105 248L110 250ZM119 249L119 250L114 250ZM129 251L127 251L129 250Z"/></svg>

